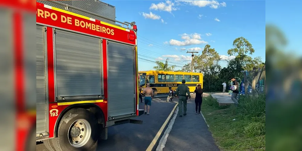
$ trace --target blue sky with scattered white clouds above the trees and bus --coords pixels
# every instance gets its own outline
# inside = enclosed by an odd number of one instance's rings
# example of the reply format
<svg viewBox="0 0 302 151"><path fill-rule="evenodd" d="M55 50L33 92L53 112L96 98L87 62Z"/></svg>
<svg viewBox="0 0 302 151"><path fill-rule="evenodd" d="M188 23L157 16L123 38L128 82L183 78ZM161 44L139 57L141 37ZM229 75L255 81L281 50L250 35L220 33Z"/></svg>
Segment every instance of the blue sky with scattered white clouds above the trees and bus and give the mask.
<svg viewBox="0 0 302 151"><path fill-rule="evenodd" d="M167 57L180 69L191 60L187 50L200 51L206 44L221 55L224 67L227 50L241 36L252 43L252 57L265 60L265 1L104 2L116 7L118 21L136 22L140 71Z"/></svg>

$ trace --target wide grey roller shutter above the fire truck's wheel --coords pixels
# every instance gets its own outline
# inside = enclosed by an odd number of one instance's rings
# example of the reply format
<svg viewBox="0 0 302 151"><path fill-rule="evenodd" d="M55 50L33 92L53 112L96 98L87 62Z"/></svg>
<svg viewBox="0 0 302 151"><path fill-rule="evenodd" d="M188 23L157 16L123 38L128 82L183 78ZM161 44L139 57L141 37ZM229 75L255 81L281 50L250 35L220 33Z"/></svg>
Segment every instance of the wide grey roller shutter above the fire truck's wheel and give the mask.
<svg viewBox="0 0 302 151"><path fill-rule="evenodd" d="M102 94L100 39L56 30L57 96Z"/></svg>

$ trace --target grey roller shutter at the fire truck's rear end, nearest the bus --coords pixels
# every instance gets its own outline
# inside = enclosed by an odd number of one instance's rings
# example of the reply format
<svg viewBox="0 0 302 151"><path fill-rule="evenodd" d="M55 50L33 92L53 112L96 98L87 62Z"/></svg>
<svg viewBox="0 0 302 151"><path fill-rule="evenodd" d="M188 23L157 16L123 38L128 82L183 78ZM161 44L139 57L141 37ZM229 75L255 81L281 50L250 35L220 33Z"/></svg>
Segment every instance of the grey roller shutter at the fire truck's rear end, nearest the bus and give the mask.
<svg viewBox="0 0 302 151"><path fill-rule="evenodd" d="M112 41L107 48L109 118L128 116L135 113L135 51Z"/></svg>

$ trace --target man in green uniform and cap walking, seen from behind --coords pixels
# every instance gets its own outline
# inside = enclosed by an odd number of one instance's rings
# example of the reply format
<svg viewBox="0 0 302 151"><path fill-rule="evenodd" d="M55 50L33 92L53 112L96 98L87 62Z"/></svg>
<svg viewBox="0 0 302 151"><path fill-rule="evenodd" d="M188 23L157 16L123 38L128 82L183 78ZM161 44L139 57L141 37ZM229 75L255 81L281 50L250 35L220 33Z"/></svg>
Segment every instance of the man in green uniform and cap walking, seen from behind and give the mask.
<svg viewBox="0 0 302 151"><path fill-rule="evenodd" d="M189 87L187 85L185 85L186 80L183 79L181 81L181 85L179 85L176 89L176 95L178 98L178 114L179 117L183 117L187 115L187 95L189 96L190 100L191 100L191 95L190 95L190 90ZM182 110L183 107L183 110ZM183 112L183 115L182 115Z"/></svg>

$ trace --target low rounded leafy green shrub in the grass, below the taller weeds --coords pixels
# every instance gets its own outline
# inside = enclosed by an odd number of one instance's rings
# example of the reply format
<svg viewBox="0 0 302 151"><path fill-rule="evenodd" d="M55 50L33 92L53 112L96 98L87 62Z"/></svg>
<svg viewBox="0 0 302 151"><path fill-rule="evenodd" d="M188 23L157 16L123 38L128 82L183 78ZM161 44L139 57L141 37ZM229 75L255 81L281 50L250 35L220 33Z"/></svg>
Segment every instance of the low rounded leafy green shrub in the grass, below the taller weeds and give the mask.
<svg viewBox="0 0 302 151"><path fill-rule="evenodd" d="M248 137L265 135L265 124L260 122L251 122L244 127L244 133Z"/></svg>

